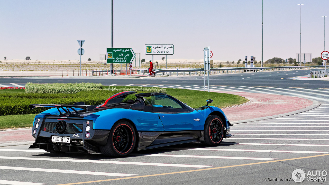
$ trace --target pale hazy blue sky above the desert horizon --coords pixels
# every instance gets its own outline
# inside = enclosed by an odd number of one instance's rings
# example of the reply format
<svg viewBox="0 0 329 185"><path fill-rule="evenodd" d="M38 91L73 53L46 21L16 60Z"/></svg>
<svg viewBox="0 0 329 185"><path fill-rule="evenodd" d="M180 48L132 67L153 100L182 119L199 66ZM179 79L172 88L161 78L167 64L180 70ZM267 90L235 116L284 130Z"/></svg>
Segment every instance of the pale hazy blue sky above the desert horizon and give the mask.
<svg viewBox="0 0 329 185"><path fill-rule="evenodd" d="M329 1L264 0L264 61L299 53L298 3L305 4L302 53L323 51L321 15L329 18ZM0 59L79 59L81 39L83 60L99 60L111 47L111 1L0 0L0 25ZM114 0L114 47L133 48L145 59L144 45L159 43L174 44L171 59L202 59L202 48L210 46L214 60L253 55L260 61L261 34L261 0Z"/></svg>

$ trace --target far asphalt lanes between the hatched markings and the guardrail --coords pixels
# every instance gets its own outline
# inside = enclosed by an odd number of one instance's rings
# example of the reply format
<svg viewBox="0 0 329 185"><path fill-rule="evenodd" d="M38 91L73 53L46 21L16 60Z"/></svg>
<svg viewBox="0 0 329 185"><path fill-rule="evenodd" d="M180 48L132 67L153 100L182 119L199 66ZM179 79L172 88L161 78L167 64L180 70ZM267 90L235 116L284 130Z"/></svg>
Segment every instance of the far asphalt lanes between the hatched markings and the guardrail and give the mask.
<svg viewBox="0 0 329 185"><path fill-rule="evenodd" d="M210 75L210 85L233 85L233 86L268 86L268 87L303 87L303 88L329 88L329 82L317 80L292 80L297 76L307 76L312 70L293 71L267 71L267 72L247 72L228 73ZM48 78L48 77L15 77L0 78L0 84L16 83L24 85L32 83L79 83L93 82L103 85L203 85L203 76L171 76L171 77L142 77L142 78Z"/></svg>

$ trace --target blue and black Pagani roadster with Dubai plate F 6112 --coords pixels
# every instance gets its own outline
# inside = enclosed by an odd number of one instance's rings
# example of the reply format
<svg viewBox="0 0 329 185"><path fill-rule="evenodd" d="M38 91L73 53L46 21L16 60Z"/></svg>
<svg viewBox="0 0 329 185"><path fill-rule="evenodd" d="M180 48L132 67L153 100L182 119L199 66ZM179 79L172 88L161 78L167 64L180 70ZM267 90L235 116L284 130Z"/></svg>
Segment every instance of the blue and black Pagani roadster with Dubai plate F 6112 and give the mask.
<svg viewBox="0 0 329 185"><path fill-rule="evenodd" d="M30 105L54 107L38 114L33 122L35 142L30 148L52 153L89 152L124 157L134 149L201 141L219 145L229 138L230 122L223 111L207 105L193 109L164 93L139 93L135 101L122 100L134 91L116 93L98 106Z"/></svg>

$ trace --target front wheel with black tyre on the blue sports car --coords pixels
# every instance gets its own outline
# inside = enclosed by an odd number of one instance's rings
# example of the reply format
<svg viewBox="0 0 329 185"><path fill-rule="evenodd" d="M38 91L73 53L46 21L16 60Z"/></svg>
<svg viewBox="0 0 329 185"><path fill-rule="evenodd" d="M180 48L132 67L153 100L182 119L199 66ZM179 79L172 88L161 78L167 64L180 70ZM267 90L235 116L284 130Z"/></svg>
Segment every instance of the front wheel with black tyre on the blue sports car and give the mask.
<svg viewBox="0 0 329 185"><path fill-rule="evenodd" d="M219 116L211 115L206 119L204 127L205 140L201 141L202 144L216 146L223 141L224 125Z"/></svg>

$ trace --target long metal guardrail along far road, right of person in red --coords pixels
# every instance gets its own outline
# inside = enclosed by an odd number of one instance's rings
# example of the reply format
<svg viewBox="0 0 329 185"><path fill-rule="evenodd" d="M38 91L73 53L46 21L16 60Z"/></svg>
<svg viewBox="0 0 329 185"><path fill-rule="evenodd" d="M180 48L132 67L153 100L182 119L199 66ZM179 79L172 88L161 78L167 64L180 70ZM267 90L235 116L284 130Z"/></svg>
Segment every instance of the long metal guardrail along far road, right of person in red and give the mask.
<svg viewBox="0 0 329 185"><path fill-rule="evenodd" d="M316 68L324 68L324 66L280 66L280 67L225 67L225 68L211 68L210 72L217 74L220 73L220 71L222 71L223 73L226 71L226 73L229 73L229 71L231 73L233 73L233 70L235 71L235 73L237 72L257 72L257 71L266 71L266 70L284 70L284 69L316 69ZM194 72L194 74L197 74L198 72L200 72L199 74L203 74L203 68L192 68L192 69L158 69L155 70L155 75L158 76L158 73L162 73L162 76L164 75L164 73L168 73L169 72L169 76L171 76L171 73L176 73L176 76L178 76L179 73L183 73L183 75L185 75L185 72L188 72L188 75L191 75L191 72Z"/></svg>

